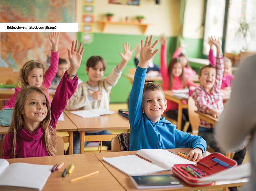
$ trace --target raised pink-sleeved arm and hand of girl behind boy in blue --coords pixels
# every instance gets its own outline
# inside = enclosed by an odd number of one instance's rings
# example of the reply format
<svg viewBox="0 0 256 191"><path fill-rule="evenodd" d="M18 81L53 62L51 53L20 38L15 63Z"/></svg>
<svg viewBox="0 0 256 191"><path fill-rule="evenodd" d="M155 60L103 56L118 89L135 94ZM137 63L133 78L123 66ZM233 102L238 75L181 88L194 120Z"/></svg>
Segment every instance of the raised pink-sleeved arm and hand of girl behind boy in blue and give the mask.
<svg viewBox="0 0 256 191"><path fill-rule="evenodd" d="M162 85L163 89L167 90L169 87L169 74L167 69L167 61L166 61L166 44L168 41L168 37L165 38L165 35L160 35L159 41L161 42L161 57L160 57L160 72L163 78Z"/></svg>

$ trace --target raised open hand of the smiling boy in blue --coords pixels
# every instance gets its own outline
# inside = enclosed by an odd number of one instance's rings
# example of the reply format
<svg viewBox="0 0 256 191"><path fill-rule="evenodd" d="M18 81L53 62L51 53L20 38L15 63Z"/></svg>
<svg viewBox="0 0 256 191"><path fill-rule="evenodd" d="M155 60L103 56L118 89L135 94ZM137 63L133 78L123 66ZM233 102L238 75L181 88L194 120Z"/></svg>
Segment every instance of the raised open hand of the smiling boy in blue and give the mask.
<svg viewBox="0 0 256 191"><path fill-rule="evenodd" d="M156 40L154 42L154 44L151 46L152 39L153 39L153 35L150 36L149 41L148 41L148 36L147 36L144 46L143 46L143 40L141 40L140 60L139 60L139 64L138 64L138 66L141 68L147 68L148 61L150 59L152 59L159 50L159 49L156 49L154 52L152 52L153 49L155 48L156 44L158 43L158 40Z"/></svg>

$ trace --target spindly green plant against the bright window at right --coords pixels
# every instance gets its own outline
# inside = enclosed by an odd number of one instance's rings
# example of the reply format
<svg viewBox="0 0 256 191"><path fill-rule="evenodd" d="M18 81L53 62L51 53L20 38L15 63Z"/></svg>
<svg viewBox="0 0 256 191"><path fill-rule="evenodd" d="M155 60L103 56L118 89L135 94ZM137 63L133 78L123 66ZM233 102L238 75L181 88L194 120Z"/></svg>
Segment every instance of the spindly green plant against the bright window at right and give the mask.
<svg viewBox="0 0 256 191"><path fill-rule="evenodd" d="M253 38L253 33L251 31L251 26L253 24L253 20L251 20L251 22L248 22L246 20L246 18L242 18L239 21L239 28L236 32L236 36L242 35L244 40L245 40L245 47L243 48L243 50L247 51L248 50L248 43L247 43L247 36L250 33L251 37Z"/></svg>

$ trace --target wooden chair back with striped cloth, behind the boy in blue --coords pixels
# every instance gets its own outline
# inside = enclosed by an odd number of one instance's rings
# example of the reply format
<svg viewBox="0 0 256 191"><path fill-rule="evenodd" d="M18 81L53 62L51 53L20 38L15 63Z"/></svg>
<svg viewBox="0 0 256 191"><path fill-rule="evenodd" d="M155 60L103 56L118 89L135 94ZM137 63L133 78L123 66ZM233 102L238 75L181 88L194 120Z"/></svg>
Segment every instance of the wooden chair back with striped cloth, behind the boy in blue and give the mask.
<svg viewBox="0 0 256 191"><path fill-rule="evenodd" d="M130 133L120 133L111 140L111 152L127 151L129 147Z"/></svg>

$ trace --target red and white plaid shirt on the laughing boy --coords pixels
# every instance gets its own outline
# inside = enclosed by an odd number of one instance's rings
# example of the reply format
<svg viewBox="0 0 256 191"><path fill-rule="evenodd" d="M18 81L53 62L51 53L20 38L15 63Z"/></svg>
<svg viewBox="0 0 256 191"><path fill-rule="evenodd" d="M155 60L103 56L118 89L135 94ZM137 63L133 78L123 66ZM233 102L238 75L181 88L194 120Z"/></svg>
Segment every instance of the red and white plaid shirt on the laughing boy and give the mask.
<svg viewBox="0 0 256 191"><path fill-rule="evenodd" d="M195 100L198 111L210 114L211 109L220 110L224 108L223 99L220 95L220 87L222 84L222 77L224 72L224 59L222 54L216 56L216 81L212 87L211 94L209 94L203 86L199 86L192 94ZM200 126L205 128L213 128L214 125L200 119Z"/></svg>

